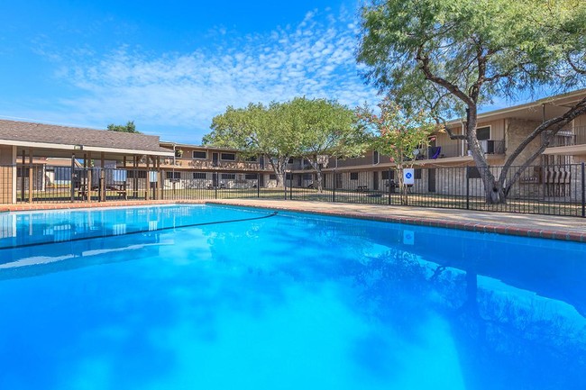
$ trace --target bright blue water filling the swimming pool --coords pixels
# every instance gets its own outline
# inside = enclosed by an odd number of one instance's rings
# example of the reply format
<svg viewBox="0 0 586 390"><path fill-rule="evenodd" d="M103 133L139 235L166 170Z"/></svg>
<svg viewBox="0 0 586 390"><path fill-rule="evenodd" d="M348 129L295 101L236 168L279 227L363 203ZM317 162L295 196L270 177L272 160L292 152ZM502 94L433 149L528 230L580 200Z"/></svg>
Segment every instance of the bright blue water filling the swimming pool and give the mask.
<svg viewBox="0 0 586 390"><path fill-rule="evenodd" d="M0 226L0 389L586 388L584 244L210 205Z"/></svg>

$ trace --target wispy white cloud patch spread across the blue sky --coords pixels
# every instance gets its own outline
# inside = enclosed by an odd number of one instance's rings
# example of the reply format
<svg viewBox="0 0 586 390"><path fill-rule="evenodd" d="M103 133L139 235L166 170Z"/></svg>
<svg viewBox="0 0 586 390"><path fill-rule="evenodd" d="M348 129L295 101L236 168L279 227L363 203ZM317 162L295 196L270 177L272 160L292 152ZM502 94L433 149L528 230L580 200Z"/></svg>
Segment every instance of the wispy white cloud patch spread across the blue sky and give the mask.
<svg viewBox="0 0 586 390"><path fill-rule="evenodd" d="M139 127L192 129L198 141L227 105L327 97L354 106L376 91L358 76L353 17L308 12L295 26L234 37L221 29L214 48L158 56L122 47L103 57L71 56L58 77L78 97L60 99L69 120L125 122ZM61 111L61 110L60 110Z"/></svg>

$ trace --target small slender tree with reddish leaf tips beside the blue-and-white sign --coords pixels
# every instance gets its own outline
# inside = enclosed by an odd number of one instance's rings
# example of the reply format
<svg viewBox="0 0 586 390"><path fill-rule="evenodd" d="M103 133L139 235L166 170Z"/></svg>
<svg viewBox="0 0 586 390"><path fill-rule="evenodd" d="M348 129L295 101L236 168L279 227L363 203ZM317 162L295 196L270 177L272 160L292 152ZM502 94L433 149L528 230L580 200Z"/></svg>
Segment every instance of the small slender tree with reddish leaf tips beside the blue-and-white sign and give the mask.
<svg viewBox="0 0 586 390"><path fill-rule="evenodd" d="M441 131L429 113L401 111L389 97L378 104L380 114L373 113L368 106L356 109L358 121L376 133L371 147L390 157L398 170L398 188L401 204L408 204L407 186L403 180L403 169L413 168L415 150L429 145L429 136Z"/></svg>

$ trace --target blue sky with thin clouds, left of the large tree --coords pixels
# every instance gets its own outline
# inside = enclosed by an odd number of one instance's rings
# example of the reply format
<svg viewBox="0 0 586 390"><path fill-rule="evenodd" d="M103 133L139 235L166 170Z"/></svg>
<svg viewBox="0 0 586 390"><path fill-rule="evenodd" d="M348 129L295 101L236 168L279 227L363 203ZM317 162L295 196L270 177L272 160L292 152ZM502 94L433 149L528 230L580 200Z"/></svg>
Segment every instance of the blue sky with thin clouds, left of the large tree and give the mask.
<svg viewBox="0 0 586 390"><path fill-rule="evenodd" d="M358 0L0 5L0 116L197 143L227 105L375 104L358 76Z"/></svg>

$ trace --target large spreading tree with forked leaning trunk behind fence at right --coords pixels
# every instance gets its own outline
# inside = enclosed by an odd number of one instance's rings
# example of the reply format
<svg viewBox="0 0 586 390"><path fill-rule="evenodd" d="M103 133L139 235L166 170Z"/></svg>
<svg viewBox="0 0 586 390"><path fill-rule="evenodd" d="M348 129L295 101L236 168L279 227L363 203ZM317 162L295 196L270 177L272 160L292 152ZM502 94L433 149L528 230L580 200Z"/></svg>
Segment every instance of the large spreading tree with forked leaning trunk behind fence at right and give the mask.
<svg viewBox="0 0 586 390"><path fill-rule="evenodd" d="M581 0L381 0L362 9L358 61L365 77L410 109L426 106L436 120L467 110L463 134L479 168L487 203L505 203L511 187L557 132L586 113L586 98L541 123L508 154L499 177L476 135L481 104L544 86L568 90L586 78L586 3ZM526 146L541 146L517 161ZM508 172L513 163L513 177Z"/></svg>

